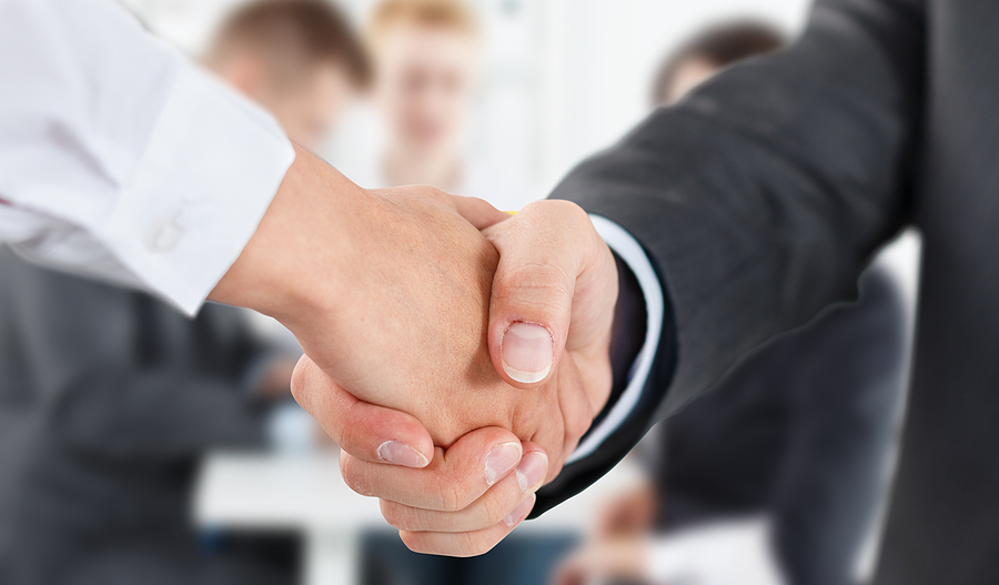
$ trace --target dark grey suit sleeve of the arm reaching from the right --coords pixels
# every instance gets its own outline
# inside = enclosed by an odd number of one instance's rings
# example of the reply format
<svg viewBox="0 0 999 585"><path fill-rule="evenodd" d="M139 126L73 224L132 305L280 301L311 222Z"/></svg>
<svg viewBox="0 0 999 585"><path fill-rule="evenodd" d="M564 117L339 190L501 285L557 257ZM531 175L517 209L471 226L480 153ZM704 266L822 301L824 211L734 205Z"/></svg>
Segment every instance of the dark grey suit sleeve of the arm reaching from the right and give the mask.
<svg viewBox="0 0 999 585"><path fill-rule="evenodd" d="M664 332L675 331L676 354L659 352L645 387L653 412L618 434L640 437L739 355L855 297L872 252L908 215L924 11L920 0L820 0L790 49L655 112L556 188L553 198L638 241L675 320ZM587 465L567 467L543 507L609 468Z"/></svg>

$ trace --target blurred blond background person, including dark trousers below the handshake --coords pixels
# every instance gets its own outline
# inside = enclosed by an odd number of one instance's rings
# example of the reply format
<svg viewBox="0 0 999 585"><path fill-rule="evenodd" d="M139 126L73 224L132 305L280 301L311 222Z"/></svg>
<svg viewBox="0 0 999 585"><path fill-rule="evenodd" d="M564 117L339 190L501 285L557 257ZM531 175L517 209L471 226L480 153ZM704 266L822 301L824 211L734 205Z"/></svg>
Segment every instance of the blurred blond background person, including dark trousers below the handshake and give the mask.
<svg viewBox="0 0 999 585"><path fill-rule="evenodd" d="M517 210L541 193L525 181L470 161L464 133L481 75L481 24L462 0L384 0L367 24L374 62L372 100L384 149L351 175L380 188L430 184ZM513 535L488 554L447 558L408 551L395 534L363 539L365 585L542 585L575 543L572 535Z"/></svg>

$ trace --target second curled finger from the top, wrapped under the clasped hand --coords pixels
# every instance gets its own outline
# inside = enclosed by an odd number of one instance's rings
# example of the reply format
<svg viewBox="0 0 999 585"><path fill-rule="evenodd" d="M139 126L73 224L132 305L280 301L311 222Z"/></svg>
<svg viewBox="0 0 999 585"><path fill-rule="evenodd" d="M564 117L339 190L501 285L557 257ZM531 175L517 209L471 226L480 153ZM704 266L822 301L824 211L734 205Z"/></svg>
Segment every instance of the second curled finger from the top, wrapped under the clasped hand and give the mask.
<svg viewBox="0 0 999 585"><path fill-rule="evenodd" d="M411 507L456 512L464 510L521 462L521 441L505 428L477 428L445 452L437 447L423 468L380 465L344 453L340 470L344 482L361 495Z"/></svg>

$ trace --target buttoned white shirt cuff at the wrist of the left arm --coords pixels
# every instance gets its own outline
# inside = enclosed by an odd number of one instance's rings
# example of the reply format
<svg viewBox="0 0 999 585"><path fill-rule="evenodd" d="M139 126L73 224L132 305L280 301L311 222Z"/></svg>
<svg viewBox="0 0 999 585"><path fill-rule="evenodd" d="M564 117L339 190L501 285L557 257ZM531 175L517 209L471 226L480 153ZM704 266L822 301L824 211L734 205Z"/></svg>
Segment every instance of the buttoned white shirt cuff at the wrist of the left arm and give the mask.
<svg viewBox="0 0 999 585"><path fill-rule="evenodd" d="M294 158L269 114L182 67L142 162L94 232L147 286L194 313L253 236Z"/></svg>

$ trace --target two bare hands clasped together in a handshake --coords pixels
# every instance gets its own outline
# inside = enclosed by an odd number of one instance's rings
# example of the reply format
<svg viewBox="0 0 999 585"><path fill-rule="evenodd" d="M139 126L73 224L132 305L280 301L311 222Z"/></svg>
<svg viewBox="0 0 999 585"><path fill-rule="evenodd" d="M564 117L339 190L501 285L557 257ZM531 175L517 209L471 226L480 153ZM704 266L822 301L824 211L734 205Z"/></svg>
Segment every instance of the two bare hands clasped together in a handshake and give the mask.
<svg viewBox="0 0 999 585"><path fill-rule="evenodd" d="M211 299L270 314L344 481L422 553L503 539L606 404L617 270L589 218L366 191L299 150Z"/></svg>

